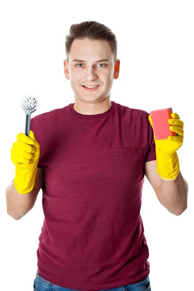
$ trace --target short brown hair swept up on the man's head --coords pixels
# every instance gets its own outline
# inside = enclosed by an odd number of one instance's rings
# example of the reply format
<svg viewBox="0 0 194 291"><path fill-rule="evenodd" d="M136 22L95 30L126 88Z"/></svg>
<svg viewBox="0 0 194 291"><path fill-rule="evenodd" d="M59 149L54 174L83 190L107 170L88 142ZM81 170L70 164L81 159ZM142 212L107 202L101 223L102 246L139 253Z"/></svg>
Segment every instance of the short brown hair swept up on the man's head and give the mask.
<svg viewBox="0 0 194 291"><path fill-rule="evenodd" d="M74 39L107 40L111 46L114 62L117 57L117 40L114 33L104 24L96 21L84 21L79 24L72 24L69 33L65 37L65 51L67 62L69 62L69 52Z"/></svg>

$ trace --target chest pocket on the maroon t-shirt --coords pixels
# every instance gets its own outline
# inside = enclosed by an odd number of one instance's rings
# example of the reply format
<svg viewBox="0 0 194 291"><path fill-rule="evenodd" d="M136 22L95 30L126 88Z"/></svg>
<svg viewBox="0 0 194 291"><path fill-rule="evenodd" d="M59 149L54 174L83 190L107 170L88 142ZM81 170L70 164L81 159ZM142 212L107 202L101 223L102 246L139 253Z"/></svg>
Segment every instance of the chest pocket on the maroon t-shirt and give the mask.
<svg viewBox="0 0 194 291"><path fill-rule="evenodd" d="M133 181L142 170L141 147L110 148L110 178L118 181Z"/></svg>

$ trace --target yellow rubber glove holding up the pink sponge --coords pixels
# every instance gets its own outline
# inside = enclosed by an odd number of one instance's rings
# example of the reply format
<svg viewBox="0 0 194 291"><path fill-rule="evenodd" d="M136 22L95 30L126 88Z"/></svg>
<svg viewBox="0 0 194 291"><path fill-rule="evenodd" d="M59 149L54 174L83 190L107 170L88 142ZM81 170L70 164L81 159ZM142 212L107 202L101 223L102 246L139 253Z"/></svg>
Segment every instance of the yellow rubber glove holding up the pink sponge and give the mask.
<svg viewBox="0 0 194 291"><path fill-rule="evenodd" d="M177 113L171 113L171 117L168 119L168 123L171 125L169 128L171 131L178 133L178 136L168 136L164 140L155 140L154 136L157 172L164 180L175 180L180 171L177 150L183 144L184 123ZM148 118L152 126L151 116L149 115Z"/></svg>

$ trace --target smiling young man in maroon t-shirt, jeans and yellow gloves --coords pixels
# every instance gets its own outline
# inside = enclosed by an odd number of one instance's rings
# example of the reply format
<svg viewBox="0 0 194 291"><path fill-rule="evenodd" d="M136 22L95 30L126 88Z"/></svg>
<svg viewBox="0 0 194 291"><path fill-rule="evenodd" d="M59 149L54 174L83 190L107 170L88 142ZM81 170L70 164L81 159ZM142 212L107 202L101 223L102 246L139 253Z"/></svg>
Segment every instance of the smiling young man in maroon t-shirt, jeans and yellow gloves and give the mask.
<svg viewBox="0 0 194 291"><path fill-rule="evenodd" d="M111 101L120 61L106 26L73 25L65 47L75 103L33 117L30 137L19 133L11 152L8 213L20 219L43 191L33 288L151 290L140 215L144 176L168 211L187 208L177 155L183 122L172 113L169 127L178 136L155 141L146 111Z"/></svg>

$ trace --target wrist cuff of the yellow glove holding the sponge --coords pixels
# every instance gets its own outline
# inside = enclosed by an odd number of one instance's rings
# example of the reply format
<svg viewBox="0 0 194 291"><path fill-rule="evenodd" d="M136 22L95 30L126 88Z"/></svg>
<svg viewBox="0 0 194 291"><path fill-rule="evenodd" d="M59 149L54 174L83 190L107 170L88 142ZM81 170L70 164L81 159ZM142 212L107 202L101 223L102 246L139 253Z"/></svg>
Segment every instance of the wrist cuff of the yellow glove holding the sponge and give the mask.
<svg viewBox="0 0 194 291"><path fill-rule="evenodd" d="M156 148L157 172L164 180L175 180L180 172L178 154L165 156Z"/></svg>

